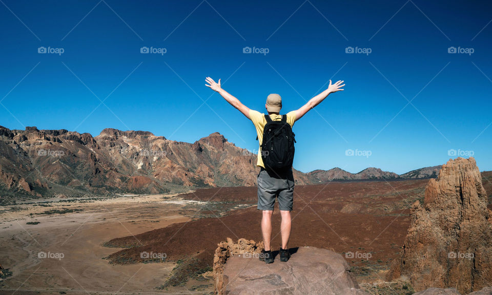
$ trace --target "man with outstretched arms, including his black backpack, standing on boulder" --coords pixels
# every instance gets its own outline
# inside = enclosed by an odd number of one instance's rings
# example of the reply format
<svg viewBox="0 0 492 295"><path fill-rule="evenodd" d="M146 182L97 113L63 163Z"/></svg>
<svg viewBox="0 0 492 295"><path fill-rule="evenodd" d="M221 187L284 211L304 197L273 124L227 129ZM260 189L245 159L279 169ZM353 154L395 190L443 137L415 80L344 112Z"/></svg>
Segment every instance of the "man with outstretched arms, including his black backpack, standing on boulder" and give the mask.
<svg viewBox="0 0 492 295"><path fill-rule="evenodd" d="M294 176L292 173L292 161L294 159L294 133L292 127L294 122L302 118L309 110L316 107L330 93L343 90L343 81L337 81L326 90L311 98L308 103L300 109L280 115L282 98L278 94L270 94L267 97L265 108L267 114L250 110L244 106L239 99L229 94L220 87L220 79L216 83L211 77L205 79L209 87L218 92L234 108L238 109L244 116L253 121L256 128L257 139L260 143L256 165L260 167L257 176L258 184L258 210L262 210L261 233L263 235L264 249L260 260L265 263L274 261L270 240L272 238L272 215L275 199L278 198L278 207L282 222L280 234L282 244L279 254L280 261L286 262L290 258L287 244L291 235L291 211L294 201Z"/></svg>

